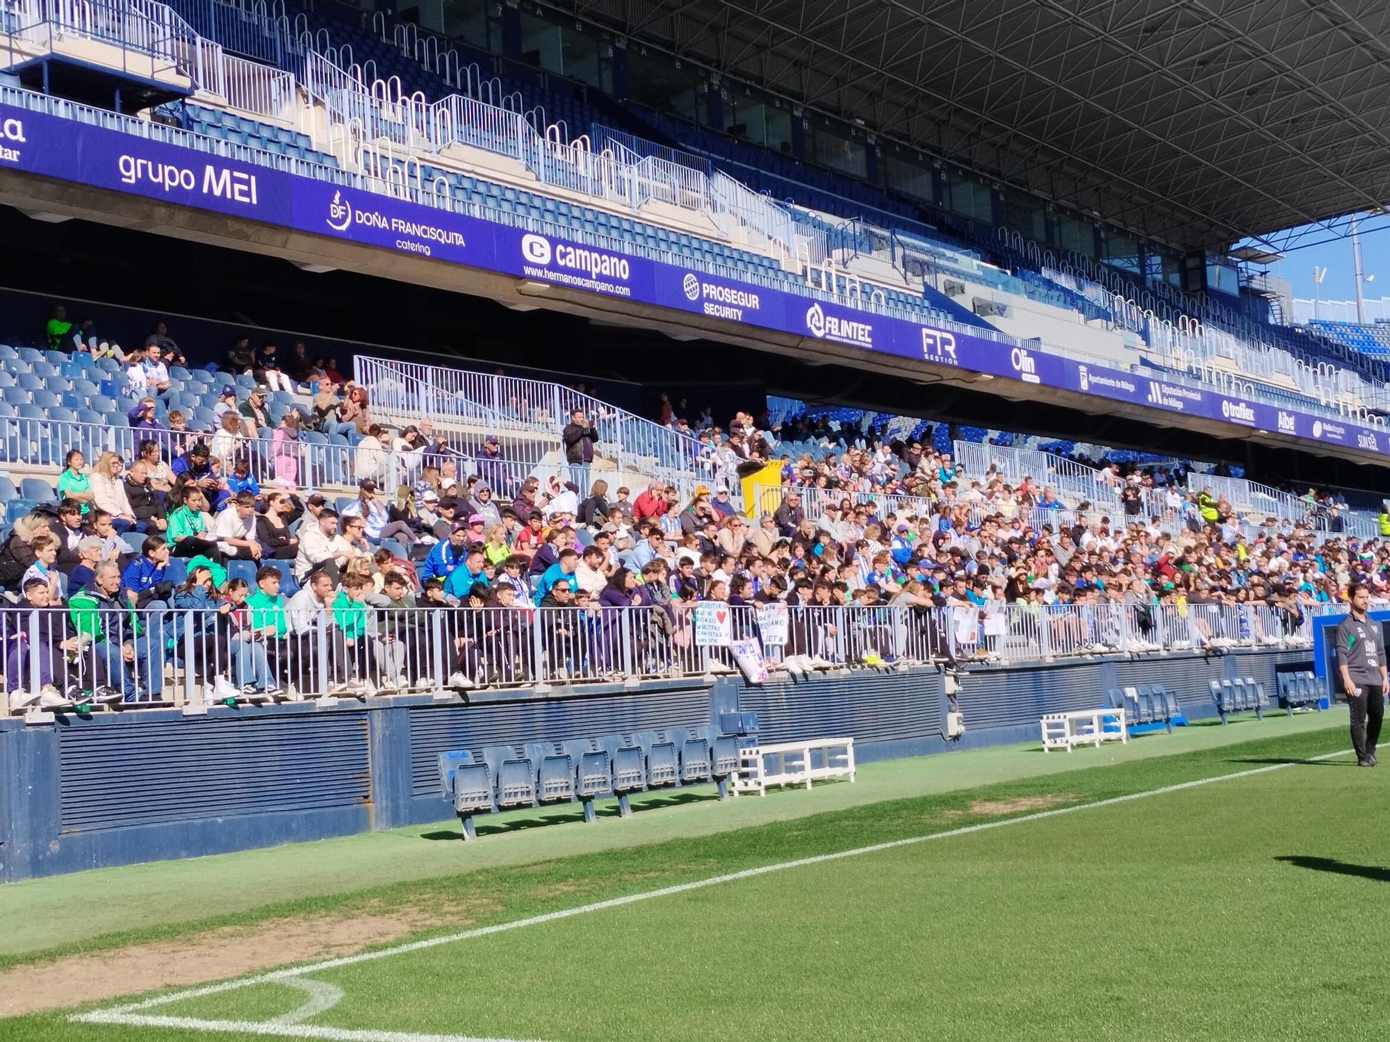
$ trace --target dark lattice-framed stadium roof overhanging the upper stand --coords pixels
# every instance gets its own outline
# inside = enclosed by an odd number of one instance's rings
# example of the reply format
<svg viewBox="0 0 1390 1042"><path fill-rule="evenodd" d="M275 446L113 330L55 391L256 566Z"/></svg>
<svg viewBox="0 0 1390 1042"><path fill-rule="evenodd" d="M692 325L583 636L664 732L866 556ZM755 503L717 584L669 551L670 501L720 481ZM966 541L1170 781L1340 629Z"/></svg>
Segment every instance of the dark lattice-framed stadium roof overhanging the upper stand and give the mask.
<svg viewBox="0 0 1390 1042"><path fill-rule="evenodd" d="M1390 203L1384 0L557 0L1184 249Z"/></svg>

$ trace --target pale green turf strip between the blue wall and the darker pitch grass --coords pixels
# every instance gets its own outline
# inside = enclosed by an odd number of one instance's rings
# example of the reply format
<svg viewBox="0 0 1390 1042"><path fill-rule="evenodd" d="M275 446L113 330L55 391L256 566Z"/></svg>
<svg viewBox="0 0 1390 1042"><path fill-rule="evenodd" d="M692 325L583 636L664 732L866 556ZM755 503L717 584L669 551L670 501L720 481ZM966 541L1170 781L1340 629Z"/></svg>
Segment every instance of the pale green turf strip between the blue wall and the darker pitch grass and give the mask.
<svg viewBox="0 0 1390 1042"><path fill-rule="evenodd" d="M208 857L96 868L70 875L25 879L0 886L0 967L29 961L56 950L95 950L114 943L197 932L213 924L249 924L297 910L318 911L352 903L352 895L374 886L457 875L506 866L626 846L646 846L682 836L714 835L751 825L788 821L869 803L926 796L979 785L1073 771L1077 767L1169 757L1175 753L1326 729L1346 728L1346 710L1333 714L1268 716L1262 722L1238 720L1232 727L1201 721L1172 735L1148 735L1120 746L1044 754L1037 742L920 756L859 766L853 785L819 785L812 792L773 792L766 799L705 799L678 813L641 811L628 821L578 822L578 810L548 807L514 810L480 820L485 843L457 841L457 820L382 832L286 843ZM692 795L682 791L682 796ZM667 796L638 799L639 807ZM600 803L600 807L603 804ZM614 814L616 809L606 807ZM530 828L537 820L570 824ZM254 885L247 885L253 879ZM54 917L76 892L100 895L81 916Z"/></svg>

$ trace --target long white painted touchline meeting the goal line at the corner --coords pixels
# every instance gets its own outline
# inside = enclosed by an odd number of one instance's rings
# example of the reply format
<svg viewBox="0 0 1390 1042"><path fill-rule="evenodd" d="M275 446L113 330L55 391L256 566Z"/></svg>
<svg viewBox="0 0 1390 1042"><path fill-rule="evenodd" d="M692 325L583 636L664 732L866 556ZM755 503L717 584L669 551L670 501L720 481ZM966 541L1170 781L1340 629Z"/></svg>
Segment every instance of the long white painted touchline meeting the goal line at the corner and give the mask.
<svg viewBox="0 0 1390 1042"><path fill-rule="evenodd" d="M623 898L610 898L607 900L599 900L591 904L580 904L578 907L573 909L546 911L545 914L541 916L530 916L527 918L518 918L510 923L498 923L491 927L464 929L459 934L446 934L443 936L425 938L424 941L411 941L404 945L396 945L395 948L382 948L375 952L361 952L359 954L342 956L339 959L327 959L320 963L310 963L309 966L291 967L286 970L275 970L268 974L260 974L257 977L243 977L240 979L225 981L222 984L211 984L203 988L189 988L186 991L175 992L172 995L158 995L154 996L153 999L145 999L142 1002L133 1002L125 1006L111 1006L103 1010L90 1010L88 1013L78 1013L74 1014L71 1020L83 1024L128 1024L132 1027L168 1027L168 1028L177 1027L190 1031L218 1031L218 1032L240 1031L252 1035L275 1035L279 1038L324 1038L324 1039L338 1039L341 1042L516 1042L514 1039L477 1039L467 1035L414 1035L410 1032L399 1032L399 1031L352 1031L348 1028L325 1028L325 1027L316 1027L311 1024L284 1024L284 1023L277 1024L274 1021L157 1017L157 1016L140 1016L140 1011L157 1006L167 1006L174 1002L182 1002L185 999L199 999L206 995L218 995L221 992L235 991L238 988L249 988L257 984L288 982L289 978L297 978L302 977L303 974L321 973L324 970L336 970L343 966L370 963L378 959L388 959L391 956L407 954L410 952L423 952L428 948L438 948L439 945L452 945L459 941L471 941L473 938L488 936L489 934L503 934L512 929L521 929L524 927L538 927L545 923L556 923L559 920L573 918L574 916L584 916L591 911L617 909L623 907L624 904L635 904L638 902L652 900L653 898L669 898L676 893L687 893L689 891L699 891L705 889L706 886L717 886L720 884L735 882L738 879L752 879L759 875L769 875L770 873L787 871L788 868L803 868L812 864L838 861L845 857L859 857L860 854L878 853L880 850L894 850L902 846L915 846L917 843L929 843L937 839L951 839L954 836L970 835L972 832L986 832L994 828L1008 828L1009 825L1022 825L1029 821L1055 818L1061 817L1062 814L1074 814L1081 810L1099 810L1101 807L1113 807L1120 803L1130 803L1133 800L1148 799L1150 796L1163 796L1170 792L1183 792L1184 789L1195 789L1202 785L1213 785L1216 782L1236 781L1237 778L1251 778L1257 774L1269 774L1270 771L1280 771L1284 767L1294 767L1297 764L1332 760L1339 756L1346 756L1350 752L1351 752L1350 749L1339 749L1334 753L1309 756L1304 760L1291 760L1289 763L1268 764L1265 767L1251 767L1250 770L1245 771L1233 771L1232 774L1218 774L1211 778L1194 778L1193 781L1177 782L1176 785L1163 785L1158 789L1145 789L1144 792L1130 792L1126 793L1125 796L1111 796L1104 800L1094 800L1093 803L1076 803L1069 807L1054 807L1051 810L1038 810L1031 814L1022 814L1015 818L1002 818L999 821L981 821L974 825L962 825L960 828L947 829L945 832L931 832L924 836L908 836L906 839L891 839L884 843L856 846L851 850L835 850L834 853L828 854L813 854L812 857L798 857L792 861L778 861L776 864L764 864L756 868L744 868L737 873L726 873L724 875L712 875L705 879L694 879L692 882L674 884L671 886L662 886L655 891L644 891L642 893L630 893Z"/></svg>

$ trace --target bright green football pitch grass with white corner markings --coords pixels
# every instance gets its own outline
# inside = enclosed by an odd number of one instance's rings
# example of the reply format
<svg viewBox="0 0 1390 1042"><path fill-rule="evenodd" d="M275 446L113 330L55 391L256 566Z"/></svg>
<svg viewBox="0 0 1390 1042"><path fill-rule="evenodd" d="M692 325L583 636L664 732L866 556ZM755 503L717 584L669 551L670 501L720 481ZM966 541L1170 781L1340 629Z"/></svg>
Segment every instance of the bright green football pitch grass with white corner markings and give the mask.
<svg viewBox="0 0 1390 1042"><path fill-rule="evenodd" d="M1329 728L1105 766L1077 750L1061 772L417 881L385 893L486 911L0 1020L0 1039L1371 1038L1390 763L1357 768L1346 745Z"/></svg>

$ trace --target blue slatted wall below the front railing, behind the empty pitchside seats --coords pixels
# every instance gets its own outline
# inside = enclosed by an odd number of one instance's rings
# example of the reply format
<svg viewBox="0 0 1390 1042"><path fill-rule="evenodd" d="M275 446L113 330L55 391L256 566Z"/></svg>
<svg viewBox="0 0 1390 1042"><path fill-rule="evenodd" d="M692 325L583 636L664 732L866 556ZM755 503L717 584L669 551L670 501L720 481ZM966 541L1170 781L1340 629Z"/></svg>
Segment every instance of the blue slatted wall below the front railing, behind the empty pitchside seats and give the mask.
<svg viewBox="0 0 1390 1042"><path fill-rule="evenodd" d="M1158 664L1162 668L1155 668ZM973 671L966 734L944 738L942 675L855 671L749 686L739 679L591 685L573 692L477 692L467 703L285 703L0 720L0 881L195 857L445 821L435 754L528 741L716 722L752 710L766 742L855 739L860 761L1037 739L1044 713L1162 681L1190 718L1212 716L1208 681L1311 668L1307 652L1090 660ZM1162 741L1161 736L1152 741ZM653 811L656 813L656 811Z"/></svg>

